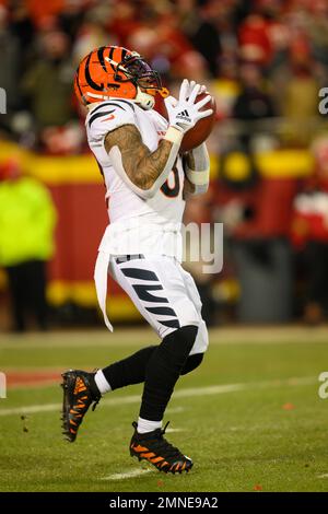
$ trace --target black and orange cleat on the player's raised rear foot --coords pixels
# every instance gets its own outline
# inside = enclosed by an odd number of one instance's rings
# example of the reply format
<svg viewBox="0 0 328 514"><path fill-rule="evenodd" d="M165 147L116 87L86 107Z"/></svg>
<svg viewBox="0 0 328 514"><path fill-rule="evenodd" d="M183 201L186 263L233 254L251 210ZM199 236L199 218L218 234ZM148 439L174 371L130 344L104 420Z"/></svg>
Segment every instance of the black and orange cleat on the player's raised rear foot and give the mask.
<svg viewBox="0 0 328 514"><path fill-rule="evenodd" d="M62 428L66 440L73 443L77 439L80 424L93 404L94 410L102 398L94 383L95 373L81 370L69 370L62 373L63 401Z"/></svg>

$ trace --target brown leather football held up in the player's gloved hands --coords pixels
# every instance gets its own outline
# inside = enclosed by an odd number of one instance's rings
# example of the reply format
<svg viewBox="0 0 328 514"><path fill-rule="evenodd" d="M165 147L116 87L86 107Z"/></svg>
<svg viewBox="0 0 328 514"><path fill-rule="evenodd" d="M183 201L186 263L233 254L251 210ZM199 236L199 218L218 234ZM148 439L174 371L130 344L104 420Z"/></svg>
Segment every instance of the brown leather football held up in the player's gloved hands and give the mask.
<svg viewBox="0 0 328 514"><path fill-rule="evenodd" d="M209 93L201 93L197 96L197 101L201 101ZM215 115L216 115L216 104L215 100L213 96L209 101L208 104L206 104L201 110L207 110L207 109L212 109L213 113L210 116L207 116L206 118L201 118L197 121L195 127L192 127L190 130L188 130L187 133L185 133L181 145L180 145L180 153L189 152L196 147L199 147L201 143L203 143L208 137L210 136L214 121L215 121Z"/></svg>

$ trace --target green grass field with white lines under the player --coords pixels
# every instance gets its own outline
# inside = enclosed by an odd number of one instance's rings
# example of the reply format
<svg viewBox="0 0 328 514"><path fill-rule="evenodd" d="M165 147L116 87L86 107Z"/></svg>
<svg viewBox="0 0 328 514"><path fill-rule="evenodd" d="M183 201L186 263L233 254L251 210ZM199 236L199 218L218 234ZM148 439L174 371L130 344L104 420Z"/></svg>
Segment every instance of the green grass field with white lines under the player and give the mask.
<svg viewBox="0 0 328 514"><path fill-rule="evenodd" d="M1 335L0 371L91 370L151 342L147 329ZM323 371L327 328L212 331L202 366L179 381L165 417L167 439L195 462L181 476L129 455L141 386L103 398L73 444L61 436L58 384L9 388L0 399L0 491L328 491Z"/></svg>

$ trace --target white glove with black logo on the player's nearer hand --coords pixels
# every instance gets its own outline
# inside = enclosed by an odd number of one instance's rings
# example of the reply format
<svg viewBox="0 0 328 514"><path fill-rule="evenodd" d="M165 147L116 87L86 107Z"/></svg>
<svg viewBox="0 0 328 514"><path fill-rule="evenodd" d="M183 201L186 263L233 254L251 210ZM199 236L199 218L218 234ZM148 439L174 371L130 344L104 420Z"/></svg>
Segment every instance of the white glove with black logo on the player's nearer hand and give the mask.
<svg viewBox="0 0 328 514"><path fill-rule="evenodd" d="M180 86L178 101L173 96L164 100L168 122L171 127L175 127L183 133L186 133L190 128L195 127L197 121L201 118L210 116L213 110L200 110L211 100L211 95L207 95L199 102L196 102L197 95L203 92L203 86L196 84L194 81L189 83L184 80Z"/></svg>

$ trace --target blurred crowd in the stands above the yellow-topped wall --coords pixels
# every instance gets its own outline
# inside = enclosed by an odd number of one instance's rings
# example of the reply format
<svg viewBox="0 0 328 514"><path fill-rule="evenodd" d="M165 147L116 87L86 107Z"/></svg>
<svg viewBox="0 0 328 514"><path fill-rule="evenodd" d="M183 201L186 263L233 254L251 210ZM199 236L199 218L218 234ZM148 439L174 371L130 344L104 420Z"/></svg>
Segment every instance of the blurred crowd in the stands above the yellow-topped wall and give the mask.
<svg viewBox="0 0 328 514"><path fill-rule="evenodd" d="M304 144L327 84L328 2L0 0L2 132L49 153L85 150L72 78L108 44L137 49L173 90L185 77L209 84L221 120L289 118L285 141Z"/></svg>

